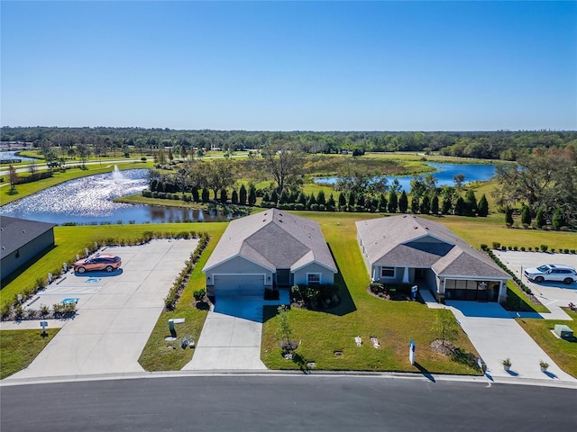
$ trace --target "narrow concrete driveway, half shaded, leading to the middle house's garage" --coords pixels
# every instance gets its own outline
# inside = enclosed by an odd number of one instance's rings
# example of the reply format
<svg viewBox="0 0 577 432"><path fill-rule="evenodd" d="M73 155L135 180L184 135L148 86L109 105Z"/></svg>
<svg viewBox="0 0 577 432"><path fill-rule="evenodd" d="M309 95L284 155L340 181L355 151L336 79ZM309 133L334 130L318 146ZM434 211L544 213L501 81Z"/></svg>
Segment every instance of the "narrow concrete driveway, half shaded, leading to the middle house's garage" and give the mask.
<svg viewBox="0 0 577 432"><path fill-rule="evenodd" d="M262 304L256 297L220 297L209 311L192 360L182 370L263 370Z"/></svg>

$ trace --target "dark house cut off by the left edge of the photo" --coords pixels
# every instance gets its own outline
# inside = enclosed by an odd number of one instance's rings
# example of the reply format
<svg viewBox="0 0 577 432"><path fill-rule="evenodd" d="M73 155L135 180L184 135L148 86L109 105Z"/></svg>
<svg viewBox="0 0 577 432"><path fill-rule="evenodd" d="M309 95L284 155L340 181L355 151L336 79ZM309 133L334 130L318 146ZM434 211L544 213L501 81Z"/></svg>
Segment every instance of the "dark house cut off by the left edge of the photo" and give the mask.
<svg viewBox="0 0 577 432"><path fill-rule="evenodd" d="M0 216L0 279L54 246L53 223Z"/></svg>

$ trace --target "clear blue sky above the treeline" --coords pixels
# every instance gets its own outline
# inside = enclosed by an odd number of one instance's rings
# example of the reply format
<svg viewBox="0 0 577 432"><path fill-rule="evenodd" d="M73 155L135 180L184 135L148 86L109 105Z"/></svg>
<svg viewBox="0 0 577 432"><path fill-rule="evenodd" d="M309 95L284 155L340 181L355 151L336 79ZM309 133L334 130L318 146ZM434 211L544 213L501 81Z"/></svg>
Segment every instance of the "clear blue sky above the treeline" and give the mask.
<svg viewBox="0 0 577 432"><path fill-rule="evenodd" d="M3 126L577 130L577 2L10 2Z"/></svg>

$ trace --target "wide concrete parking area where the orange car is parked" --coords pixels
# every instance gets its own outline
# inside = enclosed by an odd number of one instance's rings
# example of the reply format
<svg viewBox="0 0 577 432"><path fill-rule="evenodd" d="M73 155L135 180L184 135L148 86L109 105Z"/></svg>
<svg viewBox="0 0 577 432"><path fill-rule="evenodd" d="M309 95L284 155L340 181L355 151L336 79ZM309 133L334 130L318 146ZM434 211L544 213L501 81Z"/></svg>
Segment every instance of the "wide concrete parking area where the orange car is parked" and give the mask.
<svg viewBox="0 0 577 432"><path fill-rule="evenodd" d="M106 253L122 257L122 271L108 277L69 272L59 284L51 284L34 304L78 298L78 313L29 367L6 380L143 372L138 363L142 348L164 297L195 247L196 239L107 247Z"/></svg>

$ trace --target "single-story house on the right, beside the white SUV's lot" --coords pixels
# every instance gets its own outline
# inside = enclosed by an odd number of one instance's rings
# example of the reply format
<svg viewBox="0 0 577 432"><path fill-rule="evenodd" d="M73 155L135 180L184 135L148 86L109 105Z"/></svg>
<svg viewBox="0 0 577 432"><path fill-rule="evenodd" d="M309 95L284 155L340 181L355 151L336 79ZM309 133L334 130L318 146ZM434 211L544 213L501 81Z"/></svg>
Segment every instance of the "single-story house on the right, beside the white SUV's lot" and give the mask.
<svg viewBox="0 0 577 432"><path fill-rule="evenodd" d="M374 282L417 284L447 300L504 302L511 277L444 225L413 215L356 222Z"/></svg>

